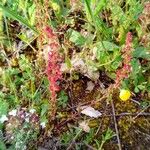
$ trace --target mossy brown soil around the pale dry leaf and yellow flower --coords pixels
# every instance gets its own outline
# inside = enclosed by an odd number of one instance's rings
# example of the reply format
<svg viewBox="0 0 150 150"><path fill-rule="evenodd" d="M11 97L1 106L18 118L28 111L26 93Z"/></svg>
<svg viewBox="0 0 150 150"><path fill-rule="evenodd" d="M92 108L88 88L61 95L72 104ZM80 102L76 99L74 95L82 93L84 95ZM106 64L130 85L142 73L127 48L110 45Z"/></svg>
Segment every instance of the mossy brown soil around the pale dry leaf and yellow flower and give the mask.
<svg viewBox="0 0 150 150"><path fill-rule="evenodd" d="M93 101L96 101L102 97L102 89L98 84L95 85L91 92L85 92L87 81L89 80L84 77L79 80L72 81L71 87L67 89L68 95L70 95L68 109L66 109L66 111L61 111L63 114L66 114L67 118L70 119L62 118L57 120L54 136L45 139L42 147L40 146L38 150L65 149L59 142L60 135L67 131L68 125L77 125L77 122L83 118L83 116L78 114L76 108L86 103L92 104ZM110 83L110 79L106 76L103 83ZM131 100L122 102L118 98L118 93L113 95L113 103L115 107L121 146L123 150L150 150L150 108L145 109L145 113L143 113L143 115L142 113L140 114L143 108L139 105L139 102L142 102L142 100L136 96L134 99L137 99L138 103ZM113 120L111 103L106 99L103 99L94 103L93 107L102 113L100 118L91 119L89 122L89 126L91 128L97 129L97 134L95 137L101 137L108 128L115 132L115 123ZM94 147L95 145L92 146ZM74 145L71 149L74 149L73 147ZM90 150L90 148L85 146L84 143L82 149ZM118 141L116 136L104 144L104 149L118 149Z"/></svg>

